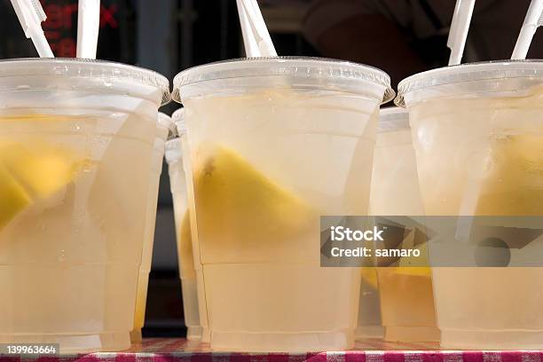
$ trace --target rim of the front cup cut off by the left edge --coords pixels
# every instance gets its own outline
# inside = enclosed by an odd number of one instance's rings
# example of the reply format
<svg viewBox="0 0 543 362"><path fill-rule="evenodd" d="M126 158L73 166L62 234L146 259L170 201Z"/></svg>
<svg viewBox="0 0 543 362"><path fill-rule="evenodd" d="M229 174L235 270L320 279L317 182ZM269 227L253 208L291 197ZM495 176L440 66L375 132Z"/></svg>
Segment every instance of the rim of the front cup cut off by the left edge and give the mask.
<svg viewBox="0 0 543 362"><path fill-rule="evenodd" d="M116 61L80 58L0 59L0 79L10 76L96 77L105 81L133 81L160 90L161 106L171 100L169 80L164 75Z"/></svg>

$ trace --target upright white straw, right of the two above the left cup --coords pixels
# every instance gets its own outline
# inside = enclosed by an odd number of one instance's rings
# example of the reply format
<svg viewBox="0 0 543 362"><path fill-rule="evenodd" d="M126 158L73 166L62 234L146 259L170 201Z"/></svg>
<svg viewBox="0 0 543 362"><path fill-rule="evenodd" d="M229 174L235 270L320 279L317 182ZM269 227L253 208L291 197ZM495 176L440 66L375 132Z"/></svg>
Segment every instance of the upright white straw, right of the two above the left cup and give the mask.
<svg viewBox="0 0 543 362"><path fill-rule="evenodd" d="M77 58L96 59L100 27L100 0L79 0Z"/></svg>

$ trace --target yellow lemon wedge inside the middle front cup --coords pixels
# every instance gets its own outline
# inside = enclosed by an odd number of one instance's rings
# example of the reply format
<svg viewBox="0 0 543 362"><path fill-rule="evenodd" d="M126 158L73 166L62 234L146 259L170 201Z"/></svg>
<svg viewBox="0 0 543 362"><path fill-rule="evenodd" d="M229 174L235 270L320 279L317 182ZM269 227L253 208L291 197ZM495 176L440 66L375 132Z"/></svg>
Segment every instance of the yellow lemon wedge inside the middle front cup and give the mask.
<svg viewBox="0 0 543 362"><path fill-rule="evenodd" d="M194 168L199 239L208 251L254 256L319 232L319 214L224 146L201 148Z"/></svg>

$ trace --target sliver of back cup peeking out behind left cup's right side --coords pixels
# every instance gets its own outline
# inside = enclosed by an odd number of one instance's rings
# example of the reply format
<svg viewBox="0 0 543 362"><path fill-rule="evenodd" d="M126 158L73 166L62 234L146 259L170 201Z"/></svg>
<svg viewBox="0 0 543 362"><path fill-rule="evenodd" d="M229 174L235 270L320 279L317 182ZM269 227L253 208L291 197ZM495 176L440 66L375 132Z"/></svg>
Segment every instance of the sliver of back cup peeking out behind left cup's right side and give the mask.
<svg viewBox="0 0 543 362"><path fill-rule="evenodd" d="M147 287L149 286L149 272L151 271L151 261L153 260L154 226L156 223L159 185L161 183L162 161L164 159L164 143L170 134L177 134L174 123L168 114L159 113L156 137L153 144L149 193L147 194L145 240L141 265L139 267L136 313L134 315L134 328L130 332L132 343L141 342L141 328L144 327L146 320Z"/></svg>

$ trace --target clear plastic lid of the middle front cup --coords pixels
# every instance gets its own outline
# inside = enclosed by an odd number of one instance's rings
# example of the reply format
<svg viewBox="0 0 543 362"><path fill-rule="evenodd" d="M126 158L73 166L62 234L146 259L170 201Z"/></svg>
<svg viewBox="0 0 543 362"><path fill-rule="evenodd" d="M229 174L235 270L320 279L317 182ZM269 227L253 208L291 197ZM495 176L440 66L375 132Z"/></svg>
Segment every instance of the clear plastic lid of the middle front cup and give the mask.
<svg viewBox="0 0 543 362"><path fill-rule="evenodd" d="M201 67L187 69L174 78L172 98L181 102L182 98L193 96L182 88L209 81L235 82L240 78L277 77L283 79L283 85L292 88L314 88L319 90L351 91L357 93L377 86L379 93L384 91L382 102L394 98L390 88L390 76L380 69L337 59L304 57L269 57L232 59L210 63ZM284 82L287 80L287 82ZM271 86L254 80L258 85ZM280 81L278 80L280 83ZM270 83L270 84L268 84ZM245 84L238 83L238 87ZM275 86L279 85L274 83ZM372 90L374 93L378 91ZM380 96L381 97L381 96Z"/></svg>

